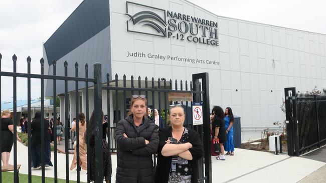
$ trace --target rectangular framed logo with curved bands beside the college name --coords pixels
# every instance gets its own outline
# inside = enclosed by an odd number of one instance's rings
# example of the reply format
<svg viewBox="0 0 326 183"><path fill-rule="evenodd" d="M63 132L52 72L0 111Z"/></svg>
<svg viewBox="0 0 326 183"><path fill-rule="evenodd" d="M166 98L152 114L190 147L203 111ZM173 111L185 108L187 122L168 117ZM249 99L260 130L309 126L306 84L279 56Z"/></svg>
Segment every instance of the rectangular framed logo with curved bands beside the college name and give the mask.
<svg viewBox="0 0 326 183"><path fill-rule="evenodd" d="M156 7L127 1L127 31L167 36L166 11ZM138 9L140 11L138 11Z"/></svg>

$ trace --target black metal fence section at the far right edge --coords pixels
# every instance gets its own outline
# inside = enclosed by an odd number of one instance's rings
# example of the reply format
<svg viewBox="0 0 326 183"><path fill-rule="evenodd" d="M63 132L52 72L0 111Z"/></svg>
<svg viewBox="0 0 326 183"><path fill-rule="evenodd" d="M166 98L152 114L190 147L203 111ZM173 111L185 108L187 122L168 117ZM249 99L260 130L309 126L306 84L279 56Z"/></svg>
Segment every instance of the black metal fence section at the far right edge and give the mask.
<svg viewBox="0 0 326 183"><path fill-rule="evenodd" d="M326 144L326 96L285 88L288 155L302 155Z"/></svg>

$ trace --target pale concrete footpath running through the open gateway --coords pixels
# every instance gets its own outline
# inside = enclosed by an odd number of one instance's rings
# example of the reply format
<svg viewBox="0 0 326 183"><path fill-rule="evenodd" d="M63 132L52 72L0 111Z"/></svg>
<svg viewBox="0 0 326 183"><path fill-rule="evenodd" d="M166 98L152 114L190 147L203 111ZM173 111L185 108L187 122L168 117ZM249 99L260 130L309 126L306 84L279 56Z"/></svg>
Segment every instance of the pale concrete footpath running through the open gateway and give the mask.
<svg viewBox="0 0 326 183"><path fill-rule="evenodd" d="M21 143L18 146L18 163L22 164L20 173L28 174L27 147ZM70 167L73 154L69 154ZM51 154L54 163L53 152ZM10 162L13 163L13 152ZM66 179L65 154L58 153L58 177ZM290 157L287 154L274 155L270 152L260 152L236 148L234 156L226 156L226 160L217 160L212 156L213 182L298 182L307 175L325 170L325 162L304 157ZM322 170L321 168L321 170ZM112 155L112 182L115 182L116 155ZM317 171L316 171L317 170ZM324 171L321 171L324 173ZM32 170L33 175L41 175L41 170ZM45 175L54 177L54 167L46 167ZM77 171L69 170L69 179L77 179ZM81 170L80 180L86 182L86 171ZM307 181L305 181L307 182ZM314 181L312 181L314 182Z"/></svg>

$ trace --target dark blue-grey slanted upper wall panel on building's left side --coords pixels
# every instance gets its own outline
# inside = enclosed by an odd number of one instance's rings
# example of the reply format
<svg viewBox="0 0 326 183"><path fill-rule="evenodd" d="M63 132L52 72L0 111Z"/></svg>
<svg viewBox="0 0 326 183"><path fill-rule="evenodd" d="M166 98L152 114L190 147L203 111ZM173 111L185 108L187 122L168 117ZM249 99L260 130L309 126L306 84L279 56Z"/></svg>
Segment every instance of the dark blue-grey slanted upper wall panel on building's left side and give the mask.
<svg viewBox="0 0 326 183"><path fill-rule="evenodd" d="M84 0L44 43L49 65L109 24L109 0Z"/></svg>

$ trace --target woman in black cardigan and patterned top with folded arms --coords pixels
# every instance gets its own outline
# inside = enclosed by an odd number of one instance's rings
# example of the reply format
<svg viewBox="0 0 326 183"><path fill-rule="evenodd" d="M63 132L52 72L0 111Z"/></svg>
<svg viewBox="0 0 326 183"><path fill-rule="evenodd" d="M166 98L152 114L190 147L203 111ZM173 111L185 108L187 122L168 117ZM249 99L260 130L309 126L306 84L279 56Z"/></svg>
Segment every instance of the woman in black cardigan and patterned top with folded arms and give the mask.
<svg viewBox="0 0 326 183"><path fill-rule="evenodd" d="M185 111L181 105L170 107L171 126L161 128L155 183L197 182L193 167L203 156L203 145L198 132L184 127Z"/></svg>

